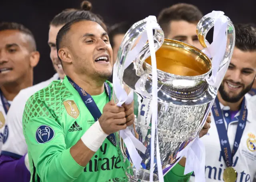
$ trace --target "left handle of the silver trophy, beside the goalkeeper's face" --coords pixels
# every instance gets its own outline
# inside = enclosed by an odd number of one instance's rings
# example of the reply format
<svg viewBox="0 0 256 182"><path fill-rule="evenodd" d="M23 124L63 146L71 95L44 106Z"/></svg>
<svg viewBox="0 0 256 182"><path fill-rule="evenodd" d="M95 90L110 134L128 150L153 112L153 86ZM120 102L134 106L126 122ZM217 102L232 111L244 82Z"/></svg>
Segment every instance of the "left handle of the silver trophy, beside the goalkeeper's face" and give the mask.
<svg viewBox="0 0 256 182"><path fill-rule="evenodd" d="M124 39L118 50L118 55L116 63L114 65L114 70L117 72L118 80L121 81L124 74L124 70L134 62L134 65L137 69L138 76L144 74L144 69L142 64L144 60L150 56L149 50L143 49L145 44L148 45L147 40L147 22L150 20L150 25L154 29L154 50L157 51L164 42L164 32L161 27L158 25L155 16L149 16L144 20L134 23L132 27L124 35ZM136 40L139 39L139 42L134 47ZM137 59L139 55L146 55L143 60ZM132 77L132 76L131 76Z"/></svg>

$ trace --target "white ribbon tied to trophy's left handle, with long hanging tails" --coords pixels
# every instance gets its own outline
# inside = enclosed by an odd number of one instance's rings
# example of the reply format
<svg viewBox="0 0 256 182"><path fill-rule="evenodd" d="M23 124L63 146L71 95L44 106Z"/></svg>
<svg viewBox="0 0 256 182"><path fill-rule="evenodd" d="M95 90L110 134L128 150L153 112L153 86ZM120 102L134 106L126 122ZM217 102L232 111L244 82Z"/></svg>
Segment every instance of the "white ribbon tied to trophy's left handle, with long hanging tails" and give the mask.
<svg viewBox="0 0 256 182"><path fill-rule="evenodd" d="M150 56L151 56L151 63L152 63L152 105L157 106L158 105L158 98L157 98L157 68L156 68L156 54L154 50L154 37L153 37L153 29L158 29L158 24L155 16L148 16L146 18L146 32L142 33L142 36L140 38L140 41L137 43L137 45L128 53L128 56L126 58L125 62L125 68L127 68L132 61L135 60L136 57L138 57L140 51L146 44L146 41L148 40L149 44L149 50L150 50ZM114 92L116 94L116 97L118 98L118 106L121 106L123 103L130 104L132 102L133 98L133 91L127 95L127 93L124 91L122 86L120 85L120 80L118 80L117 76L117 66L114 65L114 71L113 71L113 88ZM157 131L157 118L158 118L158 112L155 110L152 112L152 129L151 129L151 159L154 159L154 141L155 141L155 134L156 134L156 160L157 160L157 166L158 167L158 176L159 181L164 182L163 172L162 172L162 164L160 159L160 151L159 151L159 143L158 143L158 133ZM129 133L129 134L128 134ZM146 147L142 145L140 141L138 141L131 133L131 131L127 128L125 130L120 131L120 136L123 138L124 143L126 145L126 148L129 152L130 158L132 159L132 162L135 165L136 169L140 168L140 164L142 162L142 158L138 155L138 152L136 149L144 149L140 150L143 153L146 151ZM129 139L130 138L130 139ZM135 139L131 139L135 138ZM134 145L131 143L131 141L136 141L136 144ZM136 149L135 149L136 148ZM140 149L139 149L140 148ZM154 171L154 160L151 160L150 163L150 182L153 182L153 171Z"/></svg>

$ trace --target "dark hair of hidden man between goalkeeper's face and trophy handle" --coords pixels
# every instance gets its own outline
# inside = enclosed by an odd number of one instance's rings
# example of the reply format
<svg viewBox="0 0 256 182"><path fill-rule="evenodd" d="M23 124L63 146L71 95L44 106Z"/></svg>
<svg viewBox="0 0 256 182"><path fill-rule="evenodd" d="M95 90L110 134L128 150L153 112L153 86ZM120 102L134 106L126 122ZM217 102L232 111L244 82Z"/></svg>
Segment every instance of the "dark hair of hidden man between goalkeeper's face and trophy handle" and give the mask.
<svg viewBox="0 0 256 182"><path fill-rule="evenodd" d="M128 22L122 22L122 23L117 23L112 25L108 29L108 37L109 37L109 42L112 47L114 47L114 36L118 34L126 34L126 32L130 29L132 26L132 23Z"/></svg>

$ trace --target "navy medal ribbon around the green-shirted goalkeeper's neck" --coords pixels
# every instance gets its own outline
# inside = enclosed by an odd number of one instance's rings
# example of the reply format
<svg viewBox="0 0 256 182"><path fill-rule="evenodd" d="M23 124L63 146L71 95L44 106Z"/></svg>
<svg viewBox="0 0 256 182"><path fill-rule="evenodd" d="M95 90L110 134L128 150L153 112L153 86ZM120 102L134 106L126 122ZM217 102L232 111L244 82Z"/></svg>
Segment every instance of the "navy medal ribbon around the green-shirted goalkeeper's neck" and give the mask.
<svg viewBox="0 0 256 182"><path fill-rule="evenodd" d="M84 89L82 89L75 82L73 82L73 80L71 80L71 78L69 78L68 76L67 76L67 78L68 78L68 81L70 82L70 84L79 93L79 95L82 98L86 108L89 110L89 112L92 115L92 117L94 117L94 120L98 121L98 119L100 118L100 116L102 114L101 114L98 106L94 102L92 96L90 96L90 94L88 94ZM111 100L111 89L110 89L110 86L106 82L104 82L104 87L105 87L105 92L108 95L108 98L109 98L109 101L110 101ZM112 143L116 147L116 138L115 138L114 133L108 135L107 139L110 141L110 143Z"/></svg>

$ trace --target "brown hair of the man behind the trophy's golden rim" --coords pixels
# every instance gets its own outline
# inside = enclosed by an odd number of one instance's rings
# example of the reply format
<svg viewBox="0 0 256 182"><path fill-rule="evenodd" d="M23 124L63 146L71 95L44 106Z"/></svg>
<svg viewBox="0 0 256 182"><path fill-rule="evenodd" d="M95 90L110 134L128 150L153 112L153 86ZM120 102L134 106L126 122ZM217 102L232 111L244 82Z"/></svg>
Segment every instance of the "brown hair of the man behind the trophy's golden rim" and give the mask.
<svg viewBox="0 0 256 182"><path fill-rule="evenodd" d="M164 8L158 15L158 24L165 34L170 32L170 22L184 20L189 23L198 23L203 17L202 12L192 4L178 3Z"/></svg>

